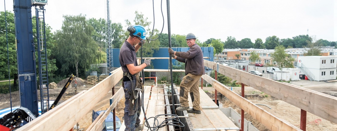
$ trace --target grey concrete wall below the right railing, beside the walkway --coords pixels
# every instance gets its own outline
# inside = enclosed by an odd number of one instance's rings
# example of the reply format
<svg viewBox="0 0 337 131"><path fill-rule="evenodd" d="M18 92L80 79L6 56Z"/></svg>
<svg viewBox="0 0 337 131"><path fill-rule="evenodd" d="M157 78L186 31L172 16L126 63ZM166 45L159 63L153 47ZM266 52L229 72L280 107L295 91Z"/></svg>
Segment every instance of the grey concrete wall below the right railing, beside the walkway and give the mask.
<svg viewBox="0 0 337 131"><path fill-rule="evenodd" d="M241 120L241 115L239 113L237 113L233 108L219 108L219 109L227 117L231 117L233 119L232 121L236 125L239 125L239 128L241 128L241 123L239 123L239 120ZM246 119L244 119L243 126L244 126L243 131L259 131L257 128L253 126L253 124L250 121L247 121Z"/></svg>

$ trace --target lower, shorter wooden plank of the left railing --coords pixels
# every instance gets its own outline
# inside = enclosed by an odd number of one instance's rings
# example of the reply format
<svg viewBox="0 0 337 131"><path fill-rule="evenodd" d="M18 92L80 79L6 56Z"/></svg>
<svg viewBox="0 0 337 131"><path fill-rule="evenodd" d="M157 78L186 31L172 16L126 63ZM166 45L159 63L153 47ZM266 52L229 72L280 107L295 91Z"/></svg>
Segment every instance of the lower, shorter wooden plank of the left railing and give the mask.
<svg viewBox="0 0 337 131"><path fill-rule="evenodd" d="M105 112L101 113L102 116L97 119L89 126L87 131L100 131L103 129L103 121L105 121L105 118L108 117L109 113L117 106L118 102L122 99L124 96L124 90L123 88L119 88L119 90L111 97L113 100L112 104L109 106L108 109L106 109ZM99 115L101 115L99 114Z"/></svg>

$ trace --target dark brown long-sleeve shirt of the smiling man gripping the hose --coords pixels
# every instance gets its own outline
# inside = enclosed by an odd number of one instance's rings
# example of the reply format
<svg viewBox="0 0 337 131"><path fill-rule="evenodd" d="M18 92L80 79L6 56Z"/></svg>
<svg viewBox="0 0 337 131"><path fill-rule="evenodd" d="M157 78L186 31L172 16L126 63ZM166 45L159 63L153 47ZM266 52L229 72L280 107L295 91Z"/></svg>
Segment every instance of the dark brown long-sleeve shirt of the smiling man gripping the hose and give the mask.
<svg viewBox="0 0 337 131"><path fill-rule="evenodd" d="M201 48L194 44L187 52L176 53L176 60L185 63L185 75L204 75L204 55Z"/></svg>

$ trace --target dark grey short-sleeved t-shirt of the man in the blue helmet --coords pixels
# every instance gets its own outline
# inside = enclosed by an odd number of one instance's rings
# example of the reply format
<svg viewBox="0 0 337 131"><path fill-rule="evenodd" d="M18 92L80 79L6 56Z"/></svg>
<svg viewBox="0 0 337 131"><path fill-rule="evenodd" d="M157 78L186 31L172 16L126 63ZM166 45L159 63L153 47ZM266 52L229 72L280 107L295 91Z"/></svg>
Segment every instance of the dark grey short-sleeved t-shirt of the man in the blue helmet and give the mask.
<svg viewBox="0 0 337 131"><path fill-rule="evenodd" d="M127 64L132 64L137 66L136 52L134 46L125 40L121 50L119 51L119 63L121 64L123 72L130 73L129 69L126 67Z"/></svg>

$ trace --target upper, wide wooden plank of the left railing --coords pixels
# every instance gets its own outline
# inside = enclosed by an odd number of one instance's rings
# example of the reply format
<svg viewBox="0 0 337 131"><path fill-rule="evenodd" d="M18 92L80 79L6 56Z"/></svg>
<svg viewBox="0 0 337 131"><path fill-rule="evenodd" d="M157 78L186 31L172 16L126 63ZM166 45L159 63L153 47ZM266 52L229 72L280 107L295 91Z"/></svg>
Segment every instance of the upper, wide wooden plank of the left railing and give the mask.
<svg viewBox="0 0 337 131"><path fill-rule="evenodd" d="M40 116L17 131L69 131L111 90L111 87L122 79L123 71L118 68L112 75L105 78L89 90L61 108L55 107L45 115ZM67 100L68 101L68 100ZM81 108L79 112L78 109Z"/></svg>

